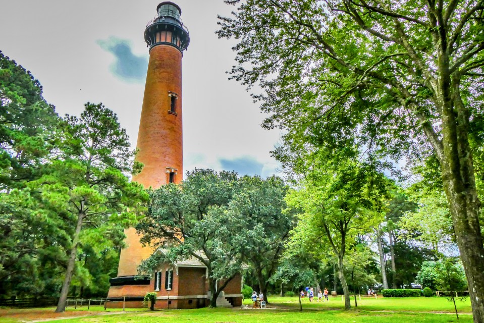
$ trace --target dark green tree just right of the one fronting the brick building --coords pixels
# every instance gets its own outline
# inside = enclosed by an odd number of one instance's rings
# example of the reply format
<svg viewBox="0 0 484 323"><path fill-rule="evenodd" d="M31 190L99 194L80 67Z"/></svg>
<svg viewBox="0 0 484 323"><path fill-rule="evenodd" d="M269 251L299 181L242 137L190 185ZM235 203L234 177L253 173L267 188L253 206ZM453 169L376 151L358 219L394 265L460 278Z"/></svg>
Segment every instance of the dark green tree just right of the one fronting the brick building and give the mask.
<svg viewBox="0 0 484 323"><path fill-rule="evenodd" d="M262 179L244 176L241 191L228 205L228 212L240 223L242 258L257 278L259 290L267 301L267 286L275 274L284 243L293 227L293 214L286 209L287 187L276 176Z"/></svg>

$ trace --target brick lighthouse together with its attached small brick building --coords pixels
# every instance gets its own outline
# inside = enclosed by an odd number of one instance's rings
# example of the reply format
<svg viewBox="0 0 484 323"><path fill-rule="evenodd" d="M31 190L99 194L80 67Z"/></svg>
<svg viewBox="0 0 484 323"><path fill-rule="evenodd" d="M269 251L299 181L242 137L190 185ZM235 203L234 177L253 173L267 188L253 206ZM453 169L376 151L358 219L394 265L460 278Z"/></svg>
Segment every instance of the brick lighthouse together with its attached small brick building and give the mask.
<svg viewBox="0 0 484 323"><path fill-rule="evenodd" d="M133 181L145 188L158 188L183 179L182 57L188 47L188 29L180 19L181 9L172 2L156 7L157 15L144 31L149 47L148 73L139 125L137 160L144 164ZM126 300L126 307L141 307L147 292L157 292L156 308L197 308L208 305L206 267L196 258L160 263L150 279L136 279L137 267L153 252L143 247L134 228L125 231L118 277L110 280L109 300ZM242 304L241 278L236 277L221 293L220 306ZM123 303L108 302L108 307Z"/></svg>

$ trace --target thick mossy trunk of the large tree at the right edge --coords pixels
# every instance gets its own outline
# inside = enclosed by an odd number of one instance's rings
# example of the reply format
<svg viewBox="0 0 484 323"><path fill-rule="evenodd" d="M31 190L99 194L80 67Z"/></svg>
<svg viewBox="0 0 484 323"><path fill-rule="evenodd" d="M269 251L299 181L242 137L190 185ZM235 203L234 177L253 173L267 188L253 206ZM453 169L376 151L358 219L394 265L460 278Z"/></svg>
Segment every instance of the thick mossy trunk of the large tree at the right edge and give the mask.
<svg viewBox="0 0 484 323"><path fill-rule="evenodd" d="M442 150L438 154L444 191L449 202L457 245L467 278L475 323L484 323L484 245L480 231L479 208L469 145L469 109L460 96L458 75L448 74L448 57L442 53Z"/></svg>

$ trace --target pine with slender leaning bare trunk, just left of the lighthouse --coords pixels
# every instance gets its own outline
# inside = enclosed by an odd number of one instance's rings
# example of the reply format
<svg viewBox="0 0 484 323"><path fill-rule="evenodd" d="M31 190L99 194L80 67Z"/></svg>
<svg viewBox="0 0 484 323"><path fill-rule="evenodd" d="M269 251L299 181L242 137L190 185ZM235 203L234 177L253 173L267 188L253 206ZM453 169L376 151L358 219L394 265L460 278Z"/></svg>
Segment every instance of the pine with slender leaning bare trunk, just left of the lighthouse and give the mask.
<svg viewBox="0 0 484 323"><path fill-rule="evenodd" d="M127 177L139 171L139 165L133 163L134 153L116 114L102 104L86 103L80 118L66 116L64 127L61 158L29 183L44 207L57 210L72 230L57 312L66 307L83 232L109 237L135 223L147 201L143 188Z"/></svg>

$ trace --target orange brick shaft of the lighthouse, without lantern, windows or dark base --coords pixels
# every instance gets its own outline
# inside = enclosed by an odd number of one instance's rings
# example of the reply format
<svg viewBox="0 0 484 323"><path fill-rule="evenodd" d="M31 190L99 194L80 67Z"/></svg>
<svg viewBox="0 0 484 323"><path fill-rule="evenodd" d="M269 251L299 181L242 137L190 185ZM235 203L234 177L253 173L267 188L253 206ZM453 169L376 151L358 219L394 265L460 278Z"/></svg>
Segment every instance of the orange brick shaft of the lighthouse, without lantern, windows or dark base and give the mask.
<svg viewBox="0 0 484 323"><path fill-rule="evenodd" d="M170 92L177 94L177 115L169 113ZM157 45L149 53L148 73L139 124L136 160L144 164L133 181L158 188L169 181L167 167L177 169L175 183L183 179L182 53L171 45ZM137 266L153 250L142 247L134 228L125 231L118 277L137 274Z"/></svg>

